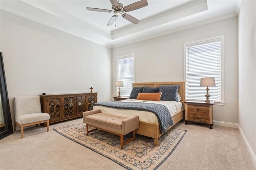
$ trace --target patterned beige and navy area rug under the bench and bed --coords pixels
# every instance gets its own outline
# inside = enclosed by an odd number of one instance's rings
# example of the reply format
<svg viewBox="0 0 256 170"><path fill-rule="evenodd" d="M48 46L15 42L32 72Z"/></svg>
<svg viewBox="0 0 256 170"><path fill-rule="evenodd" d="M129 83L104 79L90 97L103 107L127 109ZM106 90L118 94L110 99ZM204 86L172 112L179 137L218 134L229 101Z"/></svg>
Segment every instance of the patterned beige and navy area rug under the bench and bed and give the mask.
<svg viewBox="0 0 256 170"><path fill-rule="evenodd" d="M172 128L159 138L158 147L154 147L152 138L136 134L135 141L124 145L124 149L121 150L118 135L96 130L86 136L85 123L59 127L54 130L129 170L157 169L172 154L186 133L185 130ZM132 133L127 134L124 141L130 137Z"/></svg>

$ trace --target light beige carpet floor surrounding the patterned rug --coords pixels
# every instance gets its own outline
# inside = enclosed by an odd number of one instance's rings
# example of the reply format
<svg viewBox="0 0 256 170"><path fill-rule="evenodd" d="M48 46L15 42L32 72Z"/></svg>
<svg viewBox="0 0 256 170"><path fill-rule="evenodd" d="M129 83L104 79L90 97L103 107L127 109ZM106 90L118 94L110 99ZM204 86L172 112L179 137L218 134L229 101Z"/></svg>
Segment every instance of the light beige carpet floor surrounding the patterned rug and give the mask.
<svg viewBox="0 0 256 170"><path fill-rule="evenodd" d="M32 127L0 141L0 169L124 169L112 160L56 133L53 128L81 123L75 119L50 125ZM158 170L255 170L238 129L199 125L174 126L187 130L178 147Z"/></svg>

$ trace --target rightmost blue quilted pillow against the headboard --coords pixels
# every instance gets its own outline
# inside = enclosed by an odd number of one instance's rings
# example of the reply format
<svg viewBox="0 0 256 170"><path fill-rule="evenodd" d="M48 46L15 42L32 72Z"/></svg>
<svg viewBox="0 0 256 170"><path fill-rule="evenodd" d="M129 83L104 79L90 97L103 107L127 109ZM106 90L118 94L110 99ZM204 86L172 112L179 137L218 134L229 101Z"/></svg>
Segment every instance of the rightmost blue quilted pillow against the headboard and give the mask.
<svg viewBox="0 0 256 170"><path fill-rule="evenodd" d="M180 88L180 85L177 85L177 86L160 86L159 91L162 92L161 100L179 102L179 99L177 97L179 88Z"/></svg>

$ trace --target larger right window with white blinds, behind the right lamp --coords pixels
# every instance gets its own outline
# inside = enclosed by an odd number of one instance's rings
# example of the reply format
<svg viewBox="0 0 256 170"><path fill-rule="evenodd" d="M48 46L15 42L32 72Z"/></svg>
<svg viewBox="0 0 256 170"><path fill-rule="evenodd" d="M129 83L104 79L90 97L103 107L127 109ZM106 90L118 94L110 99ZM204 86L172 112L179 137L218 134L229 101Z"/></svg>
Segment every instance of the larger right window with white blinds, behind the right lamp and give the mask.
<svg viewBox="0 0 256 170"><path fill-rule="evenodd" d="M206 87L200 78L214 77L215 87L209 87L210 100L223 102L223 36L184 43L186 100L205 100Z"/></svg>

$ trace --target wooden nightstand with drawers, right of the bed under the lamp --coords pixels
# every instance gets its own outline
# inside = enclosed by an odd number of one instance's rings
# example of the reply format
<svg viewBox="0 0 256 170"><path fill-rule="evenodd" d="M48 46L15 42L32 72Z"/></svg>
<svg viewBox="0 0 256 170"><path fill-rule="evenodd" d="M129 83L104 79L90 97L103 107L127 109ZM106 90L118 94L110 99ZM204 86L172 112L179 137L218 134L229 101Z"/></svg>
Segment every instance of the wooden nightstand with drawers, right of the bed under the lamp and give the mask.
<svg viewBox="0 0 256 170"><path fill-rule="evenodd" d="M195 102L186 101L185 102L185 124L188 122L200 123L204 125L209 125L212 129L212 110L214 102Z"/></svg>

